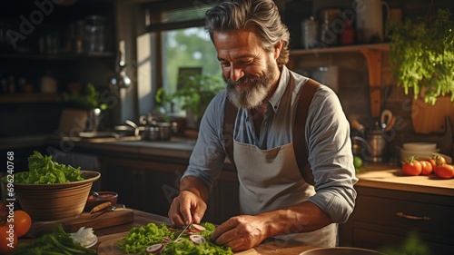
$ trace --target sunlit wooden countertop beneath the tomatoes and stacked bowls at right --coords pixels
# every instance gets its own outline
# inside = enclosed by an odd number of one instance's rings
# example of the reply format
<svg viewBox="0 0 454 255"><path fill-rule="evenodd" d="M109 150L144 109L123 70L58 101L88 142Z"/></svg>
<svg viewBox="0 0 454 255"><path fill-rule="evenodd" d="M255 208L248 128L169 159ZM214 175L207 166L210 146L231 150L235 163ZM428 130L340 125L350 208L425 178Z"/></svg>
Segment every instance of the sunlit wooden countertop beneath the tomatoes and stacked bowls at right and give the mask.
<svg viewBox="0 0 454 255"><path fill-rule="evenodd" d="M396 164L370 164L365 169L369 170L357 174L358 186L454 196L454 179L442 180L435 174L408 176Z"/></svg>

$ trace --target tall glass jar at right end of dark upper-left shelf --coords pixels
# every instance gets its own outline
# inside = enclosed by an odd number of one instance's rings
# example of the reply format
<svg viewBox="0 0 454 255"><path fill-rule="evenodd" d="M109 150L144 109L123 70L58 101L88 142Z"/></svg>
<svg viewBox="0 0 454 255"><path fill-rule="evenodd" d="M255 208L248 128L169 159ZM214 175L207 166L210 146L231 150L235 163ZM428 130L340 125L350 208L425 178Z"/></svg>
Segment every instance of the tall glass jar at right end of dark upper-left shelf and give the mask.
<svg viewBox="0 0 454 255"><path fill-rule="evenodd" d="M85 46L88 52L104 52L105 17L91 15L85 18Z"/></svg>

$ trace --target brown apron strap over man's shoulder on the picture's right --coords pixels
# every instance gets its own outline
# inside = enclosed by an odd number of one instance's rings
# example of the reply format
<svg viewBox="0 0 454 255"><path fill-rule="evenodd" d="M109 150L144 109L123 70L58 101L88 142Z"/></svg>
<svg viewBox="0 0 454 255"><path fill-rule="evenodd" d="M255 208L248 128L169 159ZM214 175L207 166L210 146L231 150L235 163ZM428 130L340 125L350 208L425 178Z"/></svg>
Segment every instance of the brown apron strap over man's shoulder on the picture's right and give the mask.
<svg viewBox="0 0 454 255"><path fill-rule="evenodd" d="M308 118L309 106L311 105L313 95L317 91L320 83L309 79L301 88L300 100L295 113L295 121L293 123L293 151L295 159L300 169L304 181L311 185L315 184L311 165L308 161L308 149L306 144L305 127Z"/></svg>

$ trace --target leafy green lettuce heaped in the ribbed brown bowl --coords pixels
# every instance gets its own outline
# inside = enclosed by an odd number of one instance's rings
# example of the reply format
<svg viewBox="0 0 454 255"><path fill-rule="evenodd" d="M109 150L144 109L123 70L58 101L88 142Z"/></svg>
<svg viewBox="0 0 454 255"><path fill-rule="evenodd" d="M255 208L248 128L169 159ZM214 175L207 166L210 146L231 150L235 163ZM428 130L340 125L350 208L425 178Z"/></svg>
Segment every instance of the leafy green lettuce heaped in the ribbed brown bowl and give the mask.
<svg viewBox="0 0 454 255"><path fill-rule="evenodd" d="M15 183L51 184L83 180L80 167L53 162L52 156L43 156L36 151L28 157L28 172L15 173Z"/></svg>

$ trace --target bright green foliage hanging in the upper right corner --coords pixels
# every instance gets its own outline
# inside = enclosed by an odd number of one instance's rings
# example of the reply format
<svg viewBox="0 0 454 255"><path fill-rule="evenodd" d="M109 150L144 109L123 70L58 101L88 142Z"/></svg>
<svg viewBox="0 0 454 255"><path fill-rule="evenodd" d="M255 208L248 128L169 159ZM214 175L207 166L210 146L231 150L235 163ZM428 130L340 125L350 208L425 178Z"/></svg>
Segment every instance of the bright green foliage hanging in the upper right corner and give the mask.
<svg viewBox="0 0 454 255"><path fill-rule="evenodd" d="M426 103L450 93L454 101L454 21L448 9L436 15L389 22L390 64L406 94L413 89Z"/></svg>

